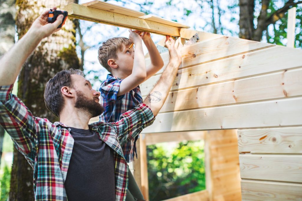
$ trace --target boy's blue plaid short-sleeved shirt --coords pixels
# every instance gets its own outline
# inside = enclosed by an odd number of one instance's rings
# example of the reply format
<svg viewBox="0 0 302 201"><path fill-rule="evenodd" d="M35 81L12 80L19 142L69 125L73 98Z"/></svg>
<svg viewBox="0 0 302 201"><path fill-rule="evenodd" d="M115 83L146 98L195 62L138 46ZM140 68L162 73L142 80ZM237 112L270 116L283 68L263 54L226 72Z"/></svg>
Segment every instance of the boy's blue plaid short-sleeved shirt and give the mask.
<svg viewBox="0 0 302 201"><path fill-rule="evenodd" d="M100 100L105 110L104 113L100 115L100 121L119 121L121 114L132 108L135 108L137 105L143 102L142 94L140 93L140 86L135 87L133 90L125 93L122 96L117 96L121 82L122 79L113 77L111 74L108 74L107 79L102 82L100 87ZM136 153L137 138L138 136L134 140L130 140L124 146L122 146L127 162L133 161L134 153Z"/></svg>

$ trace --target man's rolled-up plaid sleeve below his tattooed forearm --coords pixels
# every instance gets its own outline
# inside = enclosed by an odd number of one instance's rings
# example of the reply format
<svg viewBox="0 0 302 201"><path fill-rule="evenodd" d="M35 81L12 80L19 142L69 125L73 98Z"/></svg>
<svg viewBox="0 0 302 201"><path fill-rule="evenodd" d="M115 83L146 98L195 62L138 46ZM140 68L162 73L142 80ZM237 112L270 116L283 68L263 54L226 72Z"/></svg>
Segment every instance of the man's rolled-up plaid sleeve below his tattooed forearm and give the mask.
<svg viewBox="0 0 302 201"><path fill-rule="evenodd" d="M116 130L120 145L123 145L129 140L133 140L143 128L153 124L154 120L152 110L142 103L122 114L120 121L110 124Z"/></svg>

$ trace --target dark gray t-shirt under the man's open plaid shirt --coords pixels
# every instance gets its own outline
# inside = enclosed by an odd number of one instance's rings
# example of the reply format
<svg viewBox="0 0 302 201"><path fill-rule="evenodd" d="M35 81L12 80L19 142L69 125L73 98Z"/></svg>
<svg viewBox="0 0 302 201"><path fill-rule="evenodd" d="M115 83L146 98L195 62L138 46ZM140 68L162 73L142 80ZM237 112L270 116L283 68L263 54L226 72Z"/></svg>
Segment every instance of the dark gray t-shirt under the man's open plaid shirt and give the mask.
<svg viewBox="0 0 302 201"><path fill-rule="evenodd" d="M68 200L115 200L113 149L92 130L70 128L74 145L64 184Z"/></svg>

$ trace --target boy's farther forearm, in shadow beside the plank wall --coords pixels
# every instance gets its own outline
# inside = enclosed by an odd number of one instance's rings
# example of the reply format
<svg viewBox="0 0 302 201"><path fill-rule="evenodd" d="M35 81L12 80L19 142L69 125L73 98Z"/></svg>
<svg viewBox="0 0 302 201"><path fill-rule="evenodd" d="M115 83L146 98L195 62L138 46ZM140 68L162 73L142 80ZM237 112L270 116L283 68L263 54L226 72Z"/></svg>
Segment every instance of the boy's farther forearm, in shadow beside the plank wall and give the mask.
<svg viewBox="0 0 302 201"><path fill-rule="evenodd" d="M146 48L148 49L150 61L153 67L157 68L158 70L162 68L164 62L162 61L162 57L160 56L156 45L154 44L151 38L144 40Z"/></svg>

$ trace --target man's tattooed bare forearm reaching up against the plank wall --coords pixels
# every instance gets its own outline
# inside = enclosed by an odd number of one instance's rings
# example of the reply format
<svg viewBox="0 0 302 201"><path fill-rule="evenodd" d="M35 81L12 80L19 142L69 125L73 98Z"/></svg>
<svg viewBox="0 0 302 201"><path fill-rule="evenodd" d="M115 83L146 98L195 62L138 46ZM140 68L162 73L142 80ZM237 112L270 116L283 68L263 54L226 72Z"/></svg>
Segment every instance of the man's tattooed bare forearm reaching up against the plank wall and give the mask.
<svg viewBox="0 0 302 201"><path fill-rule="evenodd" d="M162 76L159 78L159 81L143 102L148 105L149 108L151 108L154 116L158 114L159 110L162 108L162 105L167 99L179 65L180 63L177 59L170 60L169 64L163 71Z"/></svg>

